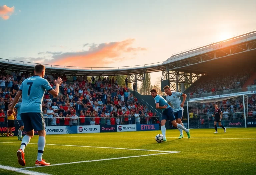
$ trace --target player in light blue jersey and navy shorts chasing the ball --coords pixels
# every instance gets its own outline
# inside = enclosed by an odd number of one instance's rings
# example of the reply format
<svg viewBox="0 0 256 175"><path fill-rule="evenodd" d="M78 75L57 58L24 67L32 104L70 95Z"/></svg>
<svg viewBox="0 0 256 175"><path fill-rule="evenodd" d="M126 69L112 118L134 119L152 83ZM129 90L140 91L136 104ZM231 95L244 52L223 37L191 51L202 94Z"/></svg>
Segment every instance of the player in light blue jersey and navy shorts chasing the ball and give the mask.
<svg viewBox="0 0 256 175"><path fill-rule="evenodd" d="M167 141L166 136L165 136L165 133L166 133L165 123L166 123L167 120L171 120L172 125L174 127L177 127L177 128L180 128L180 129L184 130L187 133L188 138L190 138L189 129L186 129L181 124L176 123L174 113L173 113L173 109L167 103L167 101L162 96L157 94L156 89L151 89L150 93L151 93L151 96L155 99L156 109L161 109L162 112L163 112L162 113L162 120L161 120L161 131L162 131L162 135L164 136L163 141Z"/></svg>

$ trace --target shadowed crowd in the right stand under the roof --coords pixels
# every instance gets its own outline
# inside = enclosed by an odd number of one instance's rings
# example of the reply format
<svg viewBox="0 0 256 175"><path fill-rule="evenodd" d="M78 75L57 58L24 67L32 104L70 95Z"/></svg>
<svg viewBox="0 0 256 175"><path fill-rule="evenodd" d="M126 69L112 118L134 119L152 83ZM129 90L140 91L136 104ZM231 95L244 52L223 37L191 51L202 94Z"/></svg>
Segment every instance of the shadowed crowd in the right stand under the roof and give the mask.
<svg viewBox="0 0 256 175"><path fill-rule="evenodd" d="M219 74L209 75L207 79L201 81L196 87L192 87L188 95L197 95L204 93L214 93L217 91L228 91L238 89L243 86L246 80L250 77L252 70L234 73L234 74Z"/></svg>

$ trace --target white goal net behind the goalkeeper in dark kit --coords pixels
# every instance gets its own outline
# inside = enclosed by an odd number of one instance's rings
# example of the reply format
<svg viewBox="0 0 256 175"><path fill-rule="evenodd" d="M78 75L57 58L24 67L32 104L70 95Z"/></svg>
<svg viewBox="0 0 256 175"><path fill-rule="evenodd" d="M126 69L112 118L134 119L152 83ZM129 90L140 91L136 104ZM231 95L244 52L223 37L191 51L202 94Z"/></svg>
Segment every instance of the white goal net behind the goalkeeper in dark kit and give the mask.
<svg viewBox="0 0 256 175"><path fill-rule="evenodd" d="M214 104L218 104L223 113L221 123L224 127L246 127L247 103L246 95L188 101L189 128L214 128Z"/></svg>

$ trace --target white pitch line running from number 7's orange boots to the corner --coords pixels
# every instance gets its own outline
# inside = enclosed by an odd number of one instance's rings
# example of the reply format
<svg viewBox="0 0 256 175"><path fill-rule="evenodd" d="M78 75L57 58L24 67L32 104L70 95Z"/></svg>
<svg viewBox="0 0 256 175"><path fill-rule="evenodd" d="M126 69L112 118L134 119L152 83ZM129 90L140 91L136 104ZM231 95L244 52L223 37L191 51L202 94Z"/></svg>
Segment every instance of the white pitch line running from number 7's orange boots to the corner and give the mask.
<svg viewBox="0 0 256 175"><path fill-rule="evenodd" d="M49 166L68 165L68 164L84 163L84 162L97 162L97 161L115 160L115 159L127 159L127 158L133 158L133 157L145 157L145 156L154 156L154 155L161 155L161 154L172 154L172 153L179 153L179 152L170 151L170 152L166 152L166 153L147 154L147 155L140 155L140 156L117 157L117 158L98 159L98 160L85 160L85 161L79 161L79 162L58 163L58 164L52 164ZM33 167L26 167L26 168L21 168L21 169L38 168L38 167L48 167L48 166L33 166Z"/></svg>

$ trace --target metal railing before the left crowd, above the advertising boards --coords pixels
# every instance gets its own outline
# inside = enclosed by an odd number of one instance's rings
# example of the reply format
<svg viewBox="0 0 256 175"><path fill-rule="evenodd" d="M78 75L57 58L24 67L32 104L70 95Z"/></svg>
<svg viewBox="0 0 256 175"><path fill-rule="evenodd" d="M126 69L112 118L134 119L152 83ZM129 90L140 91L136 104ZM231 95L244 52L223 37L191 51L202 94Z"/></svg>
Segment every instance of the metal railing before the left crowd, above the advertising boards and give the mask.
<svg viewBox="0 0 256 175"><path fill-rule="evenodd" d="M70 123L70 125L64 125L64 119L65 118L69 118L70 119L70 121L72 121L72 119L78 119L77 120L77 126L79 126L79 125L87 125L87 126L89 126L90 125L90 121L91 121L91 118L99 118L99 120L101 120L103 117L79 117L79 116L77 116L77 118L72 118L72 117L45 117L44 119L45 119L45 125L46 126L52 126L51 125L51 123L52 123L52 120L54 119L54 118L59 118L61 121L60 121L60 125L54 125L54 126L70 126L71 125L71 123ZM158 120L157 121L159 121L159 116L154 116L154 117L139 117L141 120L140 120L140 123L136 123L136 118L137 117L104 117L105 118L105 122L106 122L106 119L107 118L115 118L115 124L117 124L116 123L116 118L119 118L120 119L120 122L119 122L119 125L133 125L133 124L157 124L156 123L156 121L155 120L153 120L153 118L158 118ZM129 120L128 120L128 123L127 124L125 124L125 121L124 121L124 118L131 118L131 122L129 122ZM143 122L142 121L142 119L145 119L145 122ZM150 119L151 118L151 119ZM83 119L83 120L85 120L85 122L81 122L81 119ZM86 119L89 119L90 121L86 121ZM73 123L72 123L72 125L73 125ZM71 126L72 126L71 125ZM101 125L101 124L100 124ZM107 122L106 122L106 124L104 124L104 125L107 125Z"/></svg>

